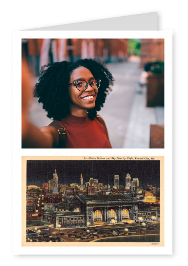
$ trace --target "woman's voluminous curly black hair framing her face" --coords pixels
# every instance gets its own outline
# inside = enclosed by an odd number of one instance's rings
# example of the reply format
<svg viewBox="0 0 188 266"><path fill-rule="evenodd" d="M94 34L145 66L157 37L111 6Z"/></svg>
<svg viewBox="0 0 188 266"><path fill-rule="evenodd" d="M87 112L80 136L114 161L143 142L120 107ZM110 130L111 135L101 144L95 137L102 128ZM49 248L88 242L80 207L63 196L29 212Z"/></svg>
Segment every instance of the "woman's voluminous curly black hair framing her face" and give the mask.
<svg viewBox="0 0 188 266"><path fill-rule="evenodd" d="M93 120L97 111L103 107L107 93L111 90L110 85L113 85L114 81L111 73L103 64L93 59L81 59L75 63L56 62L41 68L42 76L34 87L34 96L39 98L39 103L43 103L47 117L61 120L70 114L68 84L73 70L81 66L89 69L93 77L101 79L95 107L88 109L88 117Z"/></svg>

